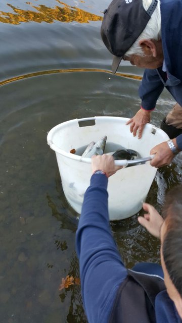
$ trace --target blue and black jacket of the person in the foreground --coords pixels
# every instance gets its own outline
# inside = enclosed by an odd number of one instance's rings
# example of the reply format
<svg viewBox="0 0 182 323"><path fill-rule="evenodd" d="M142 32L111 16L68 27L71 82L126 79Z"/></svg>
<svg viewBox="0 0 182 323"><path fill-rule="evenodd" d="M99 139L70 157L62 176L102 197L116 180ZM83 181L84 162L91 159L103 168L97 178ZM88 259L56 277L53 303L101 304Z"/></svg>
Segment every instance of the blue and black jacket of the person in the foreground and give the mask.
<svg viewBox="0 0 182 323"><path fill-rule="evenodd" d="M146 271L142 263L140 272L124 266L109 224L107 184L104 174L91 177L76 232L88 322L182 323L167 295L159 265L147 263Z"/></svg>

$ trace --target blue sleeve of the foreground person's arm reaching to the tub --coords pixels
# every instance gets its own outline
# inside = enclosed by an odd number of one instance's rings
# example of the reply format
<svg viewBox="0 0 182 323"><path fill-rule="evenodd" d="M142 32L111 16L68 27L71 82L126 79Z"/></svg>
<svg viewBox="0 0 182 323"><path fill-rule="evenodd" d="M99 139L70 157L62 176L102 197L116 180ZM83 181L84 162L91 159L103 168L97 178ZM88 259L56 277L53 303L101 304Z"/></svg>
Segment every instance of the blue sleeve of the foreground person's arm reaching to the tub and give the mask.
<svg viewBox="0 0 182 323"><path fill-rule="evenodd" d="M127 276L109 224L107 184L105 175L92 176L76 232L81 292L89 323L108 321L118 287Z"/></svg>

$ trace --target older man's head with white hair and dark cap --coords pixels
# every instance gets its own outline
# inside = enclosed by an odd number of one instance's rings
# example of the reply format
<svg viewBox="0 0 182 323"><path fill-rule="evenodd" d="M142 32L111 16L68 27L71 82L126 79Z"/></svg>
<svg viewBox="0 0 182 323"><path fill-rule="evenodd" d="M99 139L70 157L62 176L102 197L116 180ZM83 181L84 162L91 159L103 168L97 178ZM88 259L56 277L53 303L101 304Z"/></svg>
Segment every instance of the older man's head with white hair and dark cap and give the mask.
<svg viewBox="0 0 182 323"><path fill-rule="evenodd" d="M114 55L115 74L121 60L144 68L163 63L159 0L113 0L105 11L101 36Z"/></svg>

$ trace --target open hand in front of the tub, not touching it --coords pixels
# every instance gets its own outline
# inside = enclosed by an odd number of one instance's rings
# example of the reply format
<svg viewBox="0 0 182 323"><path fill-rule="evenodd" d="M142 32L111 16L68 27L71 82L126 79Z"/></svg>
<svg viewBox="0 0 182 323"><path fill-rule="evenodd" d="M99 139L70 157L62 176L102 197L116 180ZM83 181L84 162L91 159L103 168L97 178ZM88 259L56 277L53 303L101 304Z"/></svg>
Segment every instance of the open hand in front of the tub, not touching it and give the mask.
<svg viewBox="0 0 182 323"><path fill-rule="evenodd" d="M164 220L157 210L148 203L143 203L143 208L148 213L143 217L139 217L139 223L145 227L154 237L160 238L160 231Z"/></svg>

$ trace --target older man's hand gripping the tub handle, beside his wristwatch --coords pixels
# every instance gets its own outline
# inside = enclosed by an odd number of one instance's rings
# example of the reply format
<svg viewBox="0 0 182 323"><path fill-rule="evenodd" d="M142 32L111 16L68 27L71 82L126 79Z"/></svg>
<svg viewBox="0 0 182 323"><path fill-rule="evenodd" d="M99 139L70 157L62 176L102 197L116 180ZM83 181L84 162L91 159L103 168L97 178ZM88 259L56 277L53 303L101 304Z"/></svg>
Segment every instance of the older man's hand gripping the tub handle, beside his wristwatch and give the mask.
<svg viewBox="0 0 182 323"><path fill-rule="evenodd" d="M166 141L152 148L150 154L155 154L150 165L156 168L170 164L172 159L175 157Z"/></svg>

